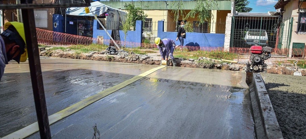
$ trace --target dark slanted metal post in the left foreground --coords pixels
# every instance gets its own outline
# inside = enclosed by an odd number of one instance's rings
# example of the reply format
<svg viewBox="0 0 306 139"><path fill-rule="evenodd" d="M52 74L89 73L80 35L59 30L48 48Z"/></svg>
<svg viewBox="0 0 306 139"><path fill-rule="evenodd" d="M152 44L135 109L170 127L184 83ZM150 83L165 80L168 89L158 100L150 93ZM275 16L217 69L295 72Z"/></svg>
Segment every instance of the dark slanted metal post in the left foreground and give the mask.
<svg viewBox="0 0 306 139"><path fill-rule="evenodd" d="M21 3L32 3L32 0L21 0ZM33 9L22 9L24 20L24 33L28 57L30 74L35 101L36 115L41 139L51 139L45 92L43 89L43 77L41 73L38 44L36 38L35 19Z"/></svg>

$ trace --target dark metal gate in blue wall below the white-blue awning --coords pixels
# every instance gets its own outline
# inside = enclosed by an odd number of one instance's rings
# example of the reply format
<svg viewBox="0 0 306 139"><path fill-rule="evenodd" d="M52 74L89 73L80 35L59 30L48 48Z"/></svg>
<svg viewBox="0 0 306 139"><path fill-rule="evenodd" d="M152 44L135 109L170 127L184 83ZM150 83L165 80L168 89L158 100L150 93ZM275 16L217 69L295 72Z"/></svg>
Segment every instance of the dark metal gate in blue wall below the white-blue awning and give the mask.
<svg viewBox="0 0 306 139"><path fill-rule="evenodd" d="M77 21L77 35L92 37L93 34L93 21Z"/></svg>

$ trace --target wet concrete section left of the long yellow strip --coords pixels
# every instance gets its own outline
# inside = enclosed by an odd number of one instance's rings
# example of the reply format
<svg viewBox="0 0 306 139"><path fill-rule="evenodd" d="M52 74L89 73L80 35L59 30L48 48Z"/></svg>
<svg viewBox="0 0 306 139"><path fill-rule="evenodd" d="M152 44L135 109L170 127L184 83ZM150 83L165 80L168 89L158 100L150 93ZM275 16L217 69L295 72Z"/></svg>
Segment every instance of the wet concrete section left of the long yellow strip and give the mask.
<svg viewBox="0 0 306 139"><path fill-rule="evenodd" d="M48 115L156 66L41 58ZM28 63L10 62L0 81L0 137L37 121Z"/></svg>

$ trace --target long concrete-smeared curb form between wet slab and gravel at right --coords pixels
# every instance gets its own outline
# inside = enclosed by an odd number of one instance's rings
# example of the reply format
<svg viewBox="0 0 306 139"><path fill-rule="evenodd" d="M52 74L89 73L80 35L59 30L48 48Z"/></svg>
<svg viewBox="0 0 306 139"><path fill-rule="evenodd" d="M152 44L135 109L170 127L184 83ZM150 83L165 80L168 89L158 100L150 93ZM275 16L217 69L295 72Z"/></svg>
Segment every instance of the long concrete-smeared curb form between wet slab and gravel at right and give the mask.
<svg viewBox="0 0 306 139"><path fill-rule="evenodd" d="M248 84L252 101L257 139L283 139L274 109L263 79L259 73L253 73L252 83Z"/></svg>

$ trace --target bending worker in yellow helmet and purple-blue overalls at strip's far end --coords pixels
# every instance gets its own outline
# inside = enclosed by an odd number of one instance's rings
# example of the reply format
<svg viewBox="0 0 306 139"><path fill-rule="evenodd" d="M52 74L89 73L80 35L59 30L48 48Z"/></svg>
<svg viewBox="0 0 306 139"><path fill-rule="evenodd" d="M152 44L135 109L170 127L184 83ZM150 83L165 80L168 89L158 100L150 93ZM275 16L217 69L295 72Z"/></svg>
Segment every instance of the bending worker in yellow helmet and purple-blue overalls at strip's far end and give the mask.
<svg viewBox="0 0 306 139"><path fill-rule="evenodd" d="M159 37L155 38L155 44L159 46L159 52L160 56L162 57L162 60L168 60L168 57L170 56L170 59L173 63L173 66L176 66L176 60L173 57L173 52L175 48L175 42L172 39L160 39Z"/></svg>

